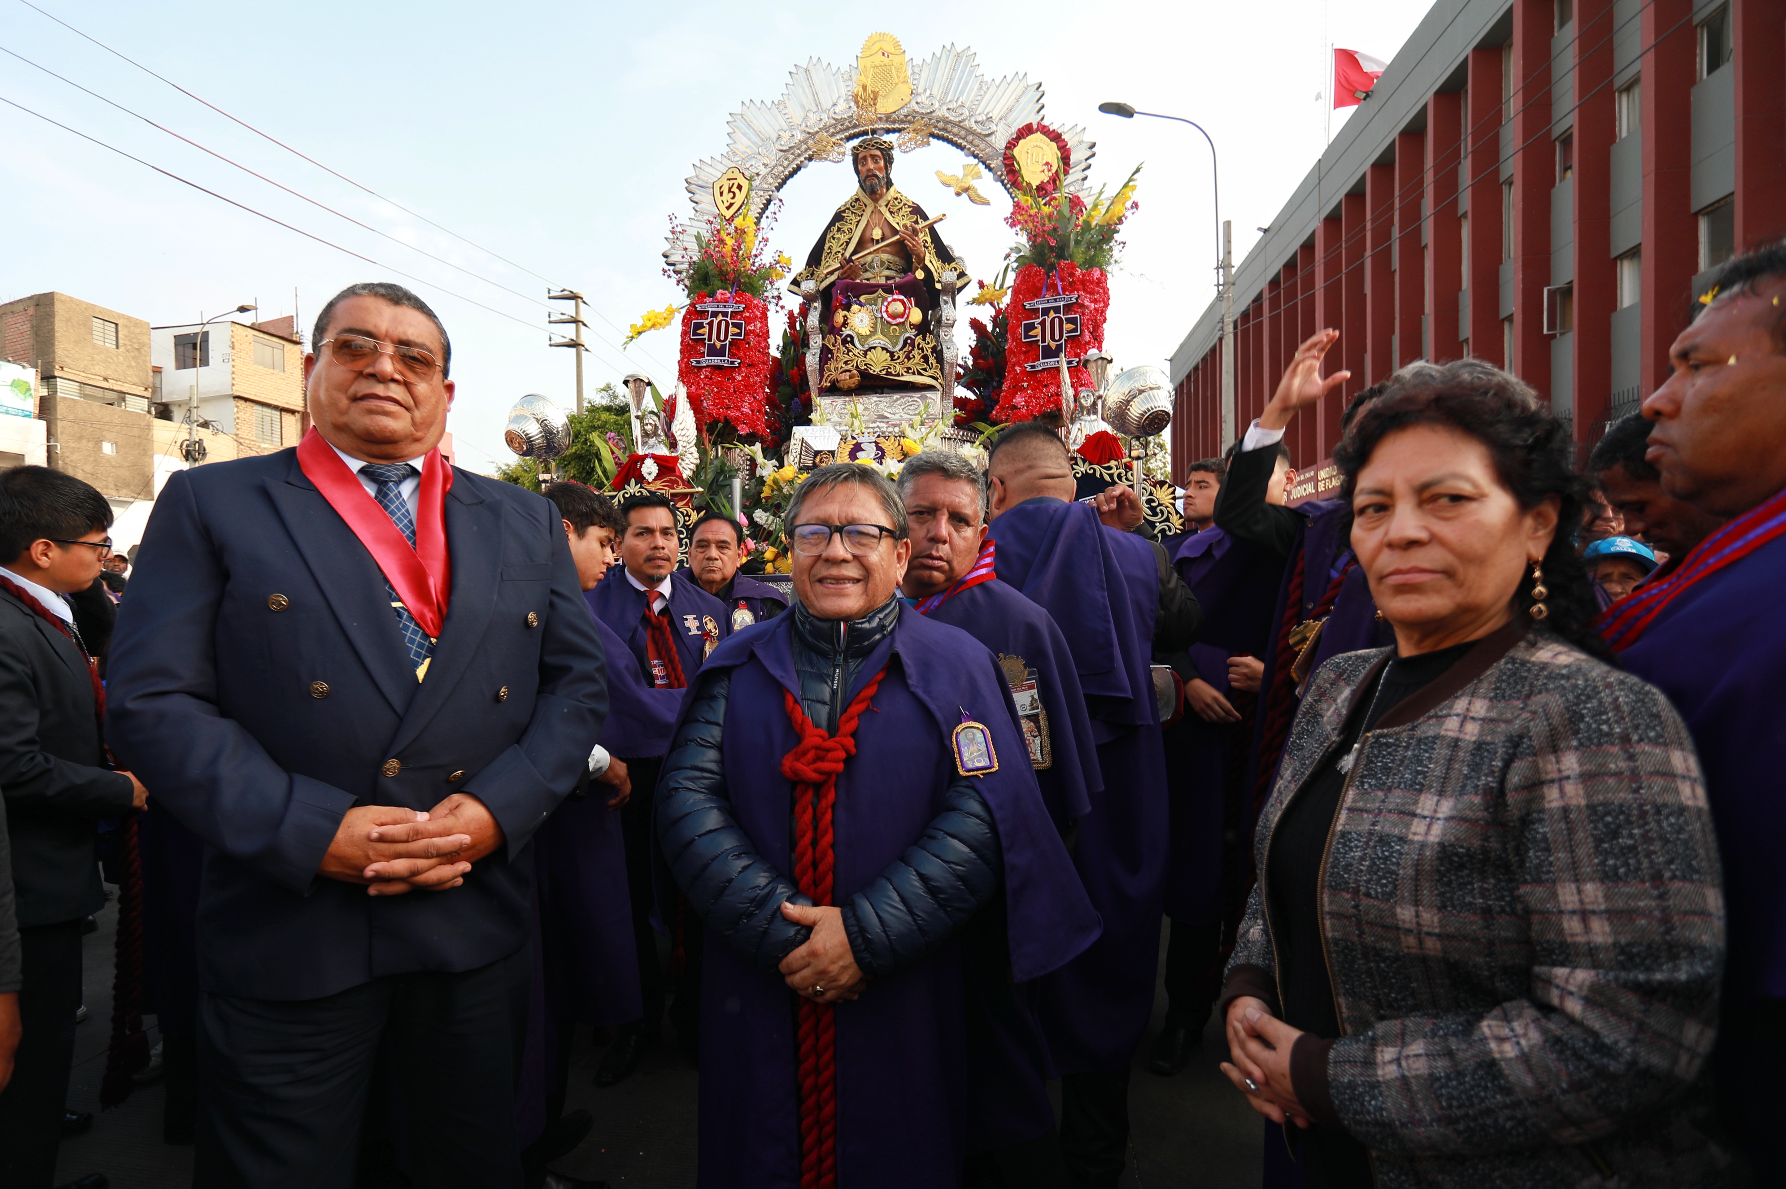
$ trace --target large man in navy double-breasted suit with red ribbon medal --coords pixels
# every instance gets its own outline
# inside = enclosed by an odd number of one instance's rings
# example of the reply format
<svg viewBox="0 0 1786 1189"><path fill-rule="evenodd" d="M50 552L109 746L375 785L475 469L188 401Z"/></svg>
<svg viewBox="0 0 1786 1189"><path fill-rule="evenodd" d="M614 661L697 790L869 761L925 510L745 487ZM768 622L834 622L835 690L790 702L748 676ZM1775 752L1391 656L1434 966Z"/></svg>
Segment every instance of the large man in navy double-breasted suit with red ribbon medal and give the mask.
<svg viewBox="0 0 1786 1189"><path fill-rule="evenodd" d="M111 741L205 841L198 1185L348 1185L391 1059L418 1185L522 1184L532 834L607 711L552 505L446 466L439 318L329 302L296 450L177 473Z"/></svg>

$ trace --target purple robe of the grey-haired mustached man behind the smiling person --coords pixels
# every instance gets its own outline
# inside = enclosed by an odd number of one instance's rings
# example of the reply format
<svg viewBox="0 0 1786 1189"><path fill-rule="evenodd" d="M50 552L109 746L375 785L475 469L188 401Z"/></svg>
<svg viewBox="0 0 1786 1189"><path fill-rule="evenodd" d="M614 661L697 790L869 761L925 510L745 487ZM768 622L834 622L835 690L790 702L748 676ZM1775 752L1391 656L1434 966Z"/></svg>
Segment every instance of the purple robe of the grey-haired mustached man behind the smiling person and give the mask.
<svg viewBox="0 0 1786 1189"><path fill-rule="evenodd" d="M959 627L995 657L1022 657L1036 673L1050 752L1048 768L1036 769L1041 800L1063 832L1091 812L1091 794L1104 789L1097 739L1073 653L1048 612L993 578L954 594L927 618ZM975 921L970 930L975 950L981 932L984 948L995 950L1002 919ZM995 962L977 957L968 955L968 1150L989 1152L1047 1134L1054 1105L1047 1043L1036 1016L1038 987L1013 985L1002 953Z"/></svg>

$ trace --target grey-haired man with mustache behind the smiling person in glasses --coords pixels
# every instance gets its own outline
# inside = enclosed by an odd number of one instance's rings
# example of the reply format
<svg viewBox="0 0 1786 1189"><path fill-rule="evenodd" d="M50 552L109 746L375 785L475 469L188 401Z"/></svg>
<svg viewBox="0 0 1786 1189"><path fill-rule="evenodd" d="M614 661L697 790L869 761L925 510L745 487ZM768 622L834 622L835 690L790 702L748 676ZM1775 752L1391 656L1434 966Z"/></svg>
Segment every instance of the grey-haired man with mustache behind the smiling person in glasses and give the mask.
<svg viewBox="0 0 1786 1189"><path fill-rule="evenodd" d="M993 573L986 477L977 466L959 453L925 450L906 459L898 493L913 543L900 591L918 614L956 625L998 657L1041 798L1070 837L1104 777L1066 637L1047 611ZM977 1166L989 1166L988 1184L1064 1184L1034 987L1011 985L1002 941L1002 912L973 918L966 946L970 1184L977 1184Z"/></svg>

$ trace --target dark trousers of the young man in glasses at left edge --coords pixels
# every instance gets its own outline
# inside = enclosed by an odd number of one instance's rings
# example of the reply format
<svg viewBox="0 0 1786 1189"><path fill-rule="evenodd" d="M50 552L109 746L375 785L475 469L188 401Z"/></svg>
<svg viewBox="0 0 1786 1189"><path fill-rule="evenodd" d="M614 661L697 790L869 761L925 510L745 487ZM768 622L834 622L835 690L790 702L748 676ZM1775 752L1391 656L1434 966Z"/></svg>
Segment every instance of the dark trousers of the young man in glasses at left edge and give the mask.
<svg viewBox="0 0 1786 1189"><path fill-rule="evenodd" d="M13 1082L0 1093L0 1185L50 1189L75 1060L80 921L34 925L18 930L18 939L25 975L18 1016L25 1035L13 1059Z"/></svg>

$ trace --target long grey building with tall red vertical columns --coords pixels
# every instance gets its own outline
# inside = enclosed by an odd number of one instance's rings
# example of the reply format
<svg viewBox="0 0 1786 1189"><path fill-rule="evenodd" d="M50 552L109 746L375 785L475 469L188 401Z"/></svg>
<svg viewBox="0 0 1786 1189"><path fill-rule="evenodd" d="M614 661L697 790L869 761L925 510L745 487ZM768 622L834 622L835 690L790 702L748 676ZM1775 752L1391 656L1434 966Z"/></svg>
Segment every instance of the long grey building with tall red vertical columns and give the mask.
<svg viewBox="0 0 1786 1189"><path fill-rule="evenodd" d="M1668 375L1706 273L1786 234L1786 0L1440 4L1234 277L1236 432L1297 345L1352 378L1291 427L1306 477L1345 402L1479 355L1586 448ZM1220 453L1222 316L1172 359L1173 468Z"/></svg>

